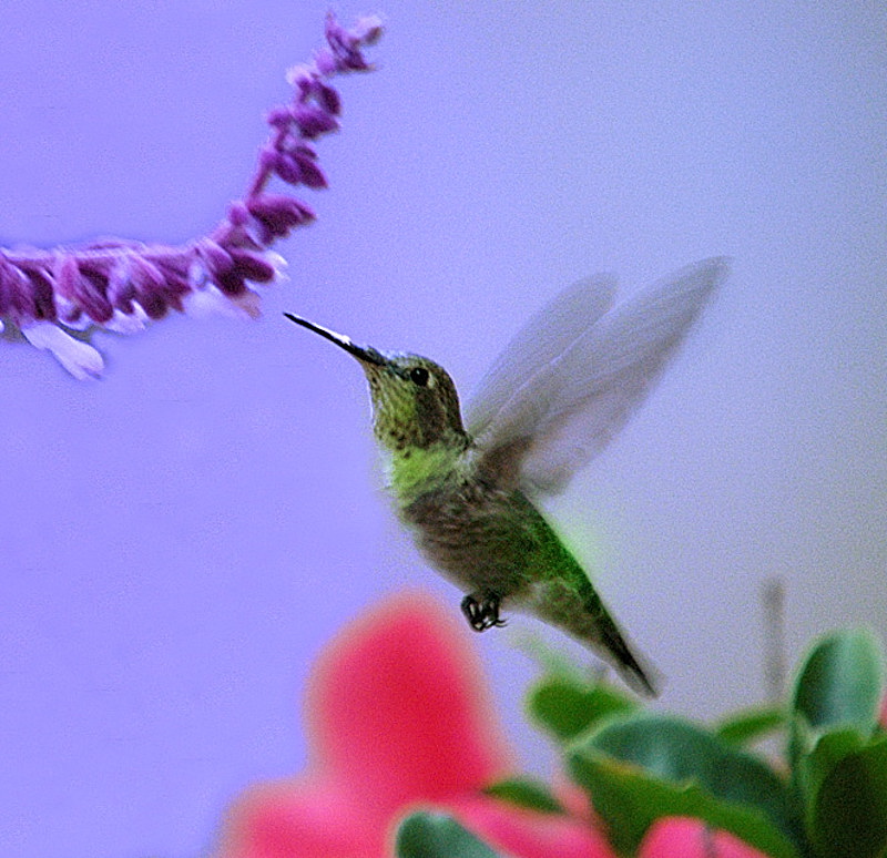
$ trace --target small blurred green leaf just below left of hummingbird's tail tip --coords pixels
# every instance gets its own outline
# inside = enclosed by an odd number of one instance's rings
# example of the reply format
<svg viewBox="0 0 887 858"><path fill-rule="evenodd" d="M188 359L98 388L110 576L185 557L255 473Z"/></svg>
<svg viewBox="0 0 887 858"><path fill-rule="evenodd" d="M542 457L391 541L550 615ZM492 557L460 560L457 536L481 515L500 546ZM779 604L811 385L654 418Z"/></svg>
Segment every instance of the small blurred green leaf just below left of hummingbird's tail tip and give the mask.
<svg viewBox="0 0 887 858"><path fill-rule="evenodd" d="M560 742L567 742L604 717L633 712L638 704L604 683L550 674L531 690L528 708L538 724Z"/></svg>

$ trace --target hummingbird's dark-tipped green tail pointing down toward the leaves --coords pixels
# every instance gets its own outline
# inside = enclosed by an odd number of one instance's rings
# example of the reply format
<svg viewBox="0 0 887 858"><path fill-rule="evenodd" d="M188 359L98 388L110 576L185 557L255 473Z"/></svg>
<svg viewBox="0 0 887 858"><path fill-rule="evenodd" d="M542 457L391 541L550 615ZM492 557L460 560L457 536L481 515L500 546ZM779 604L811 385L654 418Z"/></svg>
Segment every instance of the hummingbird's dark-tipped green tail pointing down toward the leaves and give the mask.
<svg viewBox="0 0 887 858"><path fill-rule="evenodd" d="M625 637L581 569L581 581L562 578L539 582L532 611L591 648L616 670L625 684L644 697L657 697L656 672L629 648Z"/></svg>

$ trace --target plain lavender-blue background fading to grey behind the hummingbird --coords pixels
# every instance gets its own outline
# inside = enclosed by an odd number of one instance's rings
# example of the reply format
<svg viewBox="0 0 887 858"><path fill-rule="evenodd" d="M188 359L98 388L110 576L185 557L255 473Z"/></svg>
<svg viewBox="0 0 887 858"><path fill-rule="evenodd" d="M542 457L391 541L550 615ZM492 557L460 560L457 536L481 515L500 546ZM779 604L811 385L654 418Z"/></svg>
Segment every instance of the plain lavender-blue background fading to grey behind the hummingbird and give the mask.
<svg viewBox="0 0 887 858"><path fill-rule="evenodd" d="M0 343L0 854L205 851L238 790L302 768L325 641L406 585L457 610L392 522L361 374L283 309L435 357L468 392L572 280L630 292L733 256L551 512L679 712L761 699L771 575L791 662L823 631L884 630L884 9L428 6L377 10L381 68L341 82L332 187L278 247L290 280L263 321L108 337L95 384ZM326 8L4 3L0 242L211 228ZM521 631L562 645L518 619L477 644L544 774Z"/></svg>

